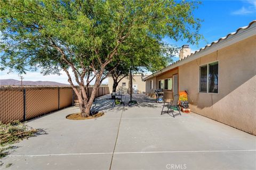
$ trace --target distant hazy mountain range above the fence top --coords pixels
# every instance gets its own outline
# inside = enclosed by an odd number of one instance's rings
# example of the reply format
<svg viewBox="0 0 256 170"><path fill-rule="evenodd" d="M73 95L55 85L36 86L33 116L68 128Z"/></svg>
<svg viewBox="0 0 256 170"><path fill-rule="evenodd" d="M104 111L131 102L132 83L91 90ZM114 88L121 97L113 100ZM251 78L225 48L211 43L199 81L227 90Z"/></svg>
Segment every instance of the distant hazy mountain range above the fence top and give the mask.
<svg viewBox="0 0 256 170"><path fill-rule="evenodd" d="M68 86L69 84L58 83L55 81L22 81L25 86ZM20 81L14 79L0 80L0 86L19 86Z"/></svg>

